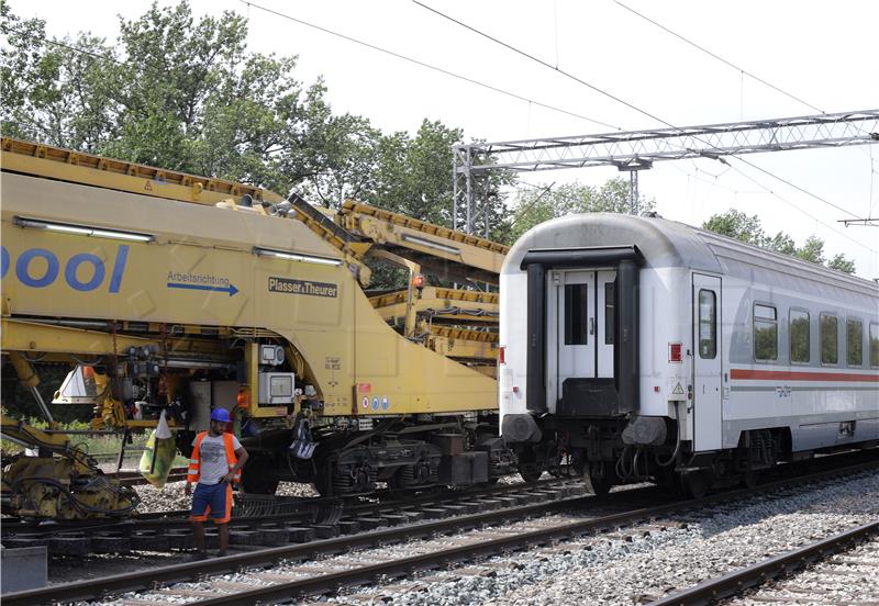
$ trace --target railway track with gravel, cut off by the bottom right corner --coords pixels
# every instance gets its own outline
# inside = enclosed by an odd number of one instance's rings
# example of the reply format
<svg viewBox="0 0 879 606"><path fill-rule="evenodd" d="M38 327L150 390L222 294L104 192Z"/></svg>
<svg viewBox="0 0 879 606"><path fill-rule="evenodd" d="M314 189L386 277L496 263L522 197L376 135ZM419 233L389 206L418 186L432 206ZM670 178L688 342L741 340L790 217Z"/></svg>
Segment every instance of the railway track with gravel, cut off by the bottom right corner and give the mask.
<svg viewBox="0 0 879 606"><path fill-rule="evenodd" d="M810 572L793 575L811 568ZM792 576L793 575L793 576ZM864 583L854 597L839 584ZM877 604L879 603L879 521L849 528L805 547L780 553L693 587L671 593L649 606L696 606L743 595L752 587L771 587L743 596L742 603ZM866 595L864 595L866 593Z"/></svg>

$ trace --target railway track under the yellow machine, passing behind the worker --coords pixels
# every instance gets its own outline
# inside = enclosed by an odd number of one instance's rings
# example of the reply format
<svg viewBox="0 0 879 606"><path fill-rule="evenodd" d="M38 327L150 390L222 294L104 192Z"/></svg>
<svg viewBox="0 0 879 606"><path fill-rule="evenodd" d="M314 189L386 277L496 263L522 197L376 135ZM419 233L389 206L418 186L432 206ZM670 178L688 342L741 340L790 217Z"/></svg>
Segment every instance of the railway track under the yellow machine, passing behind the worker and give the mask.
<svg viewBox="0 0 879 606"><path fill-rule="evenodd" d="M344 501L257 497L255 506L244 505L233 509L231 541L232 547L238 549L274 547L290 541L309 542L420 519L471 514L480 507L552 502L585 492L580 479L552 479L533 484L501 484L439 494L430 491L404 497L391 497L391 493L379 493L368 500L358 497ZM243 501L247 498L245 495ZM258 513L268 508L268 505L260 505L263 502L276 503L280 513ZM256 513L247 515L247 512ZM53 554L68 557L179 551L193 547L188 510L142 515L113 524L105 520L74 525L4 524L2 537L7 547L46 546ZM209 535L209 540L215 538Z"/></svg>

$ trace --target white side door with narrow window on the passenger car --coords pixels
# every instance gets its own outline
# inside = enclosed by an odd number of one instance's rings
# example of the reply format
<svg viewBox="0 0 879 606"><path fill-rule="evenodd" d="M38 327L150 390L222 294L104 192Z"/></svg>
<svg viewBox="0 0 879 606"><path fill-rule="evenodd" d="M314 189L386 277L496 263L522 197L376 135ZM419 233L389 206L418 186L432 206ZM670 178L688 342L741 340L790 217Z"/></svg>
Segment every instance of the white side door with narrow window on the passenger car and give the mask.
<svg viewBox="0 0 879 606"><path fill-rule="evenodd" d="M721 279L693 273L693 424L696 450L722 446Z"/></svg>

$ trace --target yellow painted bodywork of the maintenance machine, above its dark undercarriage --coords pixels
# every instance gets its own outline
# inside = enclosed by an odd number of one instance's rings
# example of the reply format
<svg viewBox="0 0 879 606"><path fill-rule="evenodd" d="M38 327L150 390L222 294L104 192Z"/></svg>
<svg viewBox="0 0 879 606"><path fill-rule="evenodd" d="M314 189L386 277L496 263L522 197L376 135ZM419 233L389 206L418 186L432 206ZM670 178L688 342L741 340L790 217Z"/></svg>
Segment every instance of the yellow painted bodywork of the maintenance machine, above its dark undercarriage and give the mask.
<svg viewBox="0 0 879 606"><path fill-rule="evenodd" d="M497 407L494 382L452 359L489 356L490 346L485 345L488 341L437 334L434 338L439 340L433 341L438 344L434 347L447 351L444 357L400 336L387 325L387 311L377 312L366 298L361 289L365 272L358 268L365 267L363 256L374 250L399 255L412 267L429 256L446 262L442 251L420 249L402 238L405 234L420 234L454 246L459 251L453 255L455 262L467 267L472 263L497 281L507 247L352 203L345 205L336 222L346 227L348 222L361 221L363 225L371 225L376 237L370 240L368 235L352 232L352 242L347 242L338 228L322 225L320 217L308 213L297 213L292 220L270 216L262 205L242 206L235 200L249 194L266 203L281 201L279 195L258 188L8 137L2 139L2 240L4 252L12 259L2 284L3 349L29 356L43 352L60 359L69 354L107 355L114 347L121 350L156 343L155 335L142 338L118 334L114 345L109 332L40 324L32 319L37 317L121 326L136 323L151 329L164 324L181 332L175 341L180 349L175 351L194 357L218 355L212 339L198 338L202 330L288 344L288 358L296 361L298 375L315 388L326 416ZM136 225L137 232L151 234L153 239L120 243L29 229L18 224L15 216L107 229ZM367 239L358 243L355 236ZM381 250L383 245L389 250ZM123 246L125 277L115 290L108 288L109 270L107 278L99 280L99 288L75 290L69 285L71 266L74 272L77 262L79 269L86 269L79 278L73 274L75 281L88 281L92 276L88 273L89 263L112 268ZM257 248L290 251L304 259L337 259L341 263L329 266L257 255ZM25 283L31 280L20 280L15 262L33 249L51 251L58 263L53 279L38 288ZM409 259L410 254L413 259ZM82 263L84 258L90 260ZM43 262L41 258L25 271L33 277L41 272L47 276ZM171 277L181 273L222 278L235 285L235 295L171 289ZM450 289L425 289L418 303L426 306L429 301L436 301L438 306L446 300L468 310L494 310L497 305L496 295ZM466 346L467 341L474 345ZM269 414L265 408L256 411L258 394L253 377L249 388L254 392L254 414ZM388 405L377 408L376 402ZM285 413L280 408L270 411L274 416Z"/></svg>

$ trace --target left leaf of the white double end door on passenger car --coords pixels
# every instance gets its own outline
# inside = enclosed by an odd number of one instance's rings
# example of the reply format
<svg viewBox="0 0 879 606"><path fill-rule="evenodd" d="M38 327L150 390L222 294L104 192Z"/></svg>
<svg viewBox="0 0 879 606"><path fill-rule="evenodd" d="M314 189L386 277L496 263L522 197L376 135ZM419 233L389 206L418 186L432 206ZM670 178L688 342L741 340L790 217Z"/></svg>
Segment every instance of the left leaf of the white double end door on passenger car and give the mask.
<svg viewBox="0 0 879 606"><path fill-rule="evenodd" d="M565 379L596 375L596 272L550 271L546 290L546 399L561 399Z"/></svg>

